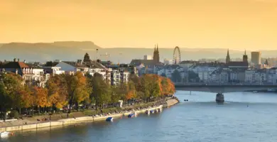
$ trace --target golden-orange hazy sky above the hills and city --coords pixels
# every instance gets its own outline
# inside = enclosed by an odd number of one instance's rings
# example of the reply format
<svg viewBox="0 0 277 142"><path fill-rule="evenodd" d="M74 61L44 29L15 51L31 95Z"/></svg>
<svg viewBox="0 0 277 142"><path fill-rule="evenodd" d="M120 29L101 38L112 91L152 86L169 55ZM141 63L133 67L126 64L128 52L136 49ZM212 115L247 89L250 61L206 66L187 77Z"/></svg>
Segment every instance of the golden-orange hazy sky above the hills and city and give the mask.
<svg viewBox="0 0 277 142"><path fill-rule="evenodd" d="M0 43L277 49L276 0L0 0Z"/></svg>

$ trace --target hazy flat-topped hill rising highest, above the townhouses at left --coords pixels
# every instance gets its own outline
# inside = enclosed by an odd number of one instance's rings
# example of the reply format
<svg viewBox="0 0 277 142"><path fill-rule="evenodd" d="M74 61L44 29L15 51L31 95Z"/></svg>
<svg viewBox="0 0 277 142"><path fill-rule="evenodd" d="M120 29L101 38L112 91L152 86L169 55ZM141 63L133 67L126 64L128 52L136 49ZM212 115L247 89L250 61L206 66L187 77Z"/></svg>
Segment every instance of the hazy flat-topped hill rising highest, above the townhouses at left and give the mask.
<svg viewBox="0 0 277 142"><path fill-rule="evenodd" d="M13 58L28 61L46 61L55 59L75 60L82 57L87 50L95 50L97 48L99 48L99 46L89 41L6 43L0 47L0 60L12 60Z"/></svg>

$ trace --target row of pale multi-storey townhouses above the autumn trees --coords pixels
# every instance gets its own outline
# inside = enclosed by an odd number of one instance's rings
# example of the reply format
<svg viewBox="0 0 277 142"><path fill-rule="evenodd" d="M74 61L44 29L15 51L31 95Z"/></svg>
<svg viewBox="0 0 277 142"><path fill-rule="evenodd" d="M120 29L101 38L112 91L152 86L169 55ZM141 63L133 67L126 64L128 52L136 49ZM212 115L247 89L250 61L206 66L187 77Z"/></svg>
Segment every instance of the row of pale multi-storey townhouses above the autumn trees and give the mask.
<svg viewBox="0 0 277 142"><path fill-rule="evenodd" d="M128 82L131 74L138 75L135 67L129 65L102 65L101 60L90 60L86 54L84 60L76 62L56 61L52 65L40 65L39 63L21 62L14 59L11 62L3 62L0 65L0 72L13 72L20 75L24 82L44 86L45 82L55 75L82 72L83 75L102 75L103 80L107 80L112 85Z"/></svg>

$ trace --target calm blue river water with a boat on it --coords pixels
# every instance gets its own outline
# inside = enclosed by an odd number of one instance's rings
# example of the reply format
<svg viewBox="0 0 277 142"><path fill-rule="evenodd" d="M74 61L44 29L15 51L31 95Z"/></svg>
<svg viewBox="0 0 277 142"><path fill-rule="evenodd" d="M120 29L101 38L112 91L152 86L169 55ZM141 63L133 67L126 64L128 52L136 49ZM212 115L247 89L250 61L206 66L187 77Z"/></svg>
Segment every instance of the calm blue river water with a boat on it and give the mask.
<svg viewBox="0 0 277 142"><path fill-rule="evenodd" d="M161 114L17 132L0 141L277 141L277 94L226 93L222 105L214 102L214 93L178 91L175 95L180 104Z"/></svg>

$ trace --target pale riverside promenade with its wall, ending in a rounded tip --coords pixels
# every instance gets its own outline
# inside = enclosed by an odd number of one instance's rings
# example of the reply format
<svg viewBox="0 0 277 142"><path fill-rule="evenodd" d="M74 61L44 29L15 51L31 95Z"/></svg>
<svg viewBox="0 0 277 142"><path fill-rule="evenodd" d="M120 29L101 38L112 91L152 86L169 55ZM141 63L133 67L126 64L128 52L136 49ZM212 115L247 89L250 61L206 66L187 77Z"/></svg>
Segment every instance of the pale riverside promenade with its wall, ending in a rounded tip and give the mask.
<svg viewBox="0 0 277 142"><path fill-rule="evenodd" d="M76 117L76 118L71 118L71 119L60 119L57 121L41 122L41 123L36 123L36 124L5 126L5 127L0 127L0 132L24 131L24 130L29 130L29 129L40 129L40 128L45 128L45 127L67 126L67 125L78 124L78 123L83 123L83 122L106 121L106 119L108 117L113 117L114 119L116 119L116 118L121 118L123 116L128 116L131 113L141 114L141 113L145 113L147 110L150 111L150 110L163 109L163 107L170 107L175 104L178 104L178 99L171 98L171 99L167 99L165 104L161 104L156 107L149 107L146 109L140 109L140 110L134 110L134 111L124 111L122 113L109 114L107 116L82 116L82 117Z"/></svg>

